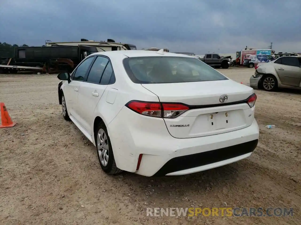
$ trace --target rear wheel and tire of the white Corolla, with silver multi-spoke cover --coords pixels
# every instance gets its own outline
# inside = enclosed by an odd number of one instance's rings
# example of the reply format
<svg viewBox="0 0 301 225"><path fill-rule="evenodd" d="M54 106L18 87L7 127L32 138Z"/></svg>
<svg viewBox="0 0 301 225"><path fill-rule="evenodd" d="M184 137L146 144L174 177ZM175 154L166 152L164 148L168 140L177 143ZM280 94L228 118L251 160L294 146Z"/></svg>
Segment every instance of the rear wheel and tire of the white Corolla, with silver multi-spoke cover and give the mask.
<svg viewBox="0 0 301 225"><path fill-rule="evenodd" d="M103 121L96 126L94 139L101 169L107 174L121 173L122 170L116 166L110 137Z"/></svg>

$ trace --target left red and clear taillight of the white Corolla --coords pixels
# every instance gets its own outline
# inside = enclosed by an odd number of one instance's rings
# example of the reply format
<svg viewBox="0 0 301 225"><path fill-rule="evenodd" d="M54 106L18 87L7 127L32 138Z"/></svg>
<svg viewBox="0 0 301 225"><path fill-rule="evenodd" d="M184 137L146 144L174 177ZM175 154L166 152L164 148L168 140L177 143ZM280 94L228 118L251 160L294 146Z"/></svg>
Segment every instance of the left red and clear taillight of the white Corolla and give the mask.
<svg viewBox="0 0 301 225"><path fill-rule="evenodd" d="M141 115L161 118L175 118L189 110L189 107L183 104L144 101L130 101L126 107Z"/></svg>

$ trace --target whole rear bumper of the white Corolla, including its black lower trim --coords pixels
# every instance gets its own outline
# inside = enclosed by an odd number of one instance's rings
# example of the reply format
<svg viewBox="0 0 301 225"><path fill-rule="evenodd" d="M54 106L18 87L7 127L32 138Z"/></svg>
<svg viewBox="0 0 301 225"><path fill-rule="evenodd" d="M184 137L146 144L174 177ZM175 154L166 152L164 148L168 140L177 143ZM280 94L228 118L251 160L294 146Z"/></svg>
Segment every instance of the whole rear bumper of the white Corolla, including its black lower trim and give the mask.
<svg viewBox="0 0 301 225"><path fill-rule="evenodd" d="M163 119L149 120L129 109L121 111L123 116L119 113L108 126L116 165L143 176L183 175L239 161L251 155L259 139L255 119L249 127L236 131L174 138Z"/></svg>

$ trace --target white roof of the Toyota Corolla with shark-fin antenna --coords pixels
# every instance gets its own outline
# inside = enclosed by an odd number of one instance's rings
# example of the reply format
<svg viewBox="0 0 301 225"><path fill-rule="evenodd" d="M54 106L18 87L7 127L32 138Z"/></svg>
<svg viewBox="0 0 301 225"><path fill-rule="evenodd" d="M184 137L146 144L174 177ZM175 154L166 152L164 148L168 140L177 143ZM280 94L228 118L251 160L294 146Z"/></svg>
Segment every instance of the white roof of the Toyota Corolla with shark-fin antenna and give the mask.
<svg viewBox="0 0 301 225"><path fill-rule="evenodd" d="M114 56L126 56L126 57L143 57L143 56L175 56L175 57L188 57L191 58L190 55L171 53L171 52L163 52L163 54L157 53L157 51L148 51L148 50L120 50L120 51L108 51L108 52L96 52L91 55L105 55L108 57Z"/></svg>

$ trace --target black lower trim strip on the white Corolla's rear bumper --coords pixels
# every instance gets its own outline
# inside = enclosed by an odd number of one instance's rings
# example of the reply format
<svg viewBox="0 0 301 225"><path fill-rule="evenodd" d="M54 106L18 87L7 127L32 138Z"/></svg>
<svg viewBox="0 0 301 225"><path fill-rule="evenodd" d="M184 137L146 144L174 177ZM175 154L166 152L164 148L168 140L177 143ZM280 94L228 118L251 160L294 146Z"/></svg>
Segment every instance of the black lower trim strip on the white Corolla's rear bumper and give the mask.
<svg viewBox="0 0 301 225"><path fill-rule="evenodd" d="M222 149L172 158L154 176L165 176L168 173L200 167L244 155L253 152L257 144L258 140L256 139Z"/></svg>

